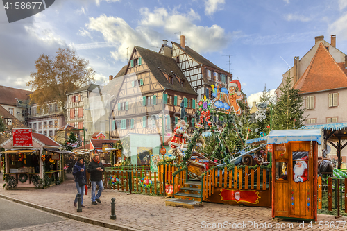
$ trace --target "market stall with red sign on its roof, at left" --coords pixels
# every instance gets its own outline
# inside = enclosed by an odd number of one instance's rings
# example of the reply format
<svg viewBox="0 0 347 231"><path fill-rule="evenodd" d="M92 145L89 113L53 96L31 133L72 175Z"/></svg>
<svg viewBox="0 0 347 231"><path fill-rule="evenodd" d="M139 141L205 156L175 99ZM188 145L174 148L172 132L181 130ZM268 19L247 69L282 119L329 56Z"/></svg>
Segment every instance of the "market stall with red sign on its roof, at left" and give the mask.
<svg viewBox="0 0 347 231"><path fill-rule="evenodd" d="M31 129L14 129L13 137L1 144L5 151L6 189L36 188L40 178L61 178L60 145Z"/></svg>

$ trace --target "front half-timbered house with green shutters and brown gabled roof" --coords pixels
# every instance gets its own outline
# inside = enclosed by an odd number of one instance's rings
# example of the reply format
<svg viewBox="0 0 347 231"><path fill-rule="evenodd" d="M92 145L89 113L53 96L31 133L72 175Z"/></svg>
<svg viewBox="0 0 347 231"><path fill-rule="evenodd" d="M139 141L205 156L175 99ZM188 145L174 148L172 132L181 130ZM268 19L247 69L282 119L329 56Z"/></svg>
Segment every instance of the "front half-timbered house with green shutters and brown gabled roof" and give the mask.
<svg viewBox="0 0 347 231"><path fill-rule="evenodd" d="M197 96L176 60L135 46L113 104L111 138L167 135L180 119L181 103L194 127Z"/></svg>

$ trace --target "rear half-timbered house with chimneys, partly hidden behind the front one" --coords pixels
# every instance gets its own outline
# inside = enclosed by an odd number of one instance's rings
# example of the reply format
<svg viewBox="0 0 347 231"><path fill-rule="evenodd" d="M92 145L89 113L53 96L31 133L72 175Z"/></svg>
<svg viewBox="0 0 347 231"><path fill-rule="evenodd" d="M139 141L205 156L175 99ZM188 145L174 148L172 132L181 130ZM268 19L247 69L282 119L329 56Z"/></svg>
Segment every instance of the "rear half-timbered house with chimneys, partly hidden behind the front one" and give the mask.
<svg viewBox="0 0 347 231"><path fill-rule="evenodd" d="M232 80L232 74L214 65L202 55L185 45L185 36L180 36L180 44L171 41L172 46L167 45L167 40L160 48L159 53L171 56L177 62L185 77L198 93L198 101L205 94L212 99L212 87L217 81L228 85Z"/></svg>

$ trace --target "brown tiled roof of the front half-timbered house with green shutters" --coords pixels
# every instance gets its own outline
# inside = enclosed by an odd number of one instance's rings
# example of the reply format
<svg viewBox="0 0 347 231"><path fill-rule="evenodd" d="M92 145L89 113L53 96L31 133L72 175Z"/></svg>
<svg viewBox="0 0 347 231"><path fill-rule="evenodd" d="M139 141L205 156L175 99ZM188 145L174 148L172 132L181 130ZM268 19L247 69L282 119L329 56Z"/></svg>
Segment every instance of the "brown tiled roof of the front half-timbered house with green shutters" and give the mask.
<svg viewBox="0 0 347 231"><path fill-rule="evenodd" d="M196 96L198 95L194 91L192 86L188 83L187 78L185 78L185 75L183 74L180 67L178 67L176 61L173 58L167 57L155 51L151 51L149 49L145 49L139 46L135 46L135 49L139 52L144 62L146 62L146 65L151 70L153 76L155 76L155 78L163 87L177 92L194 94ZM180 78L181 80L185 80L184 87L180 85L176 78L174 78L174 83L170 84L167 78L165 78L162 71L170 75L174 74L178 76L178 78Z"/></svg>

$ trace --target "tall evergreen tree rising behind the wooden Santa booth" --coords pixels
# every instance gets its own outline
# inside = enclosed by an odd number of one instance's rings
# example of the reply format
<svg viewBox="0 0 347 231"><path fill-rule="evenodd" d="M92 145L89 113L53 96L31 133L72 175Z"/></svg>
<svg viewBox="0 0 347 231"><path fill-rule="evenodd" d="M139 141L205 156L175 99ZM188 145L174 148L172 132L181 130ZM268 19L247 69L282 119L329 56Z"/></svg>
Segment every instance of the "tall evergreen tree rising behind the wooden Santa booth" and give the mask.
<svg viewBox="0 0 347 231"><path fill-rule="evenodd" d="M291 86L292 77L285 78L285 85L280 87L282 94L278 98L273 113L273 129L297 129L303 126L303 96L300 90Z"/></svg>

